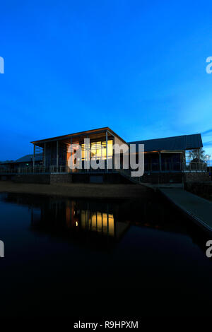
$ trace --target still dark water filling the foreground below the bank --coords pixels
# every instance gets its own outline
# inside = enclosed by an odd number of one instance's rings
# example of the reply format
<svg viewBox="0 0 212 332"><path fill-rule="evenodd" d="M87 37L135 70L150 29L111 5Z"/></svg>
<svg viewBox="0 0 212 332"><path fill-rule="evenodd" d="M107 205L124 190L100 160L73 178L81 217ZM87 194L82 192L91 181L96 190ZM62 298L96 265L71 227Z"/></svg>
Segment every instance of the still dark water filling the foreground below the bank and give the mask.
<svg viewBox="0 0 212 332"><path fill-rule="evenodd" d="M162 198L1 194L0 316L211 315L209 239Z"/></svg>

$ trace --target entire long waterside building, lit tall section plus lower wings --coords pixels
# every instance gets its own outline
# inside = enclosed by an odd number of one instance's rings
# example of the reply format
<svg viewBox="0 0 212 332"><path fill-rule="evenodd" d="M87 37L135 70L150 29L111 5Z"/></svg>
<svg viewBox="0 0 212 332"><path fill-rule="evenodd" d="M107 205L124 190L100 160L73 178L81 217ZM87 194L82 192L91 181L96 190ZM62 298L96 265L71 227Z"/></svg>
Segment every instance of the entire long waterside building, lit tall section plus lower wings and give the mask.
<svg viewBox="0 0 212 332"><path fill-rule="evenodd" d="M126 142L112 129L104 127L31 143L33 143L33 155L27 155L10 163L10 168L13 167L13 170L19 174L25 172L72 174L72 179L77 181L81 179L83 182L104 182L106 178L108 181L109 177L101 174L112 173L134 182L155 182L155 179L157 182L159 177L164 182L179 182L179 179L182 181L180 174L184 172L206 172L206 163L201 160L195 162L187 160L188 150L199 150L203 147L201 134ZM117 167L114 144L119 147L123 144L126 146L134 144L136 161L139 159L139 144L144 145L145 172L142 178L132 178L131 170L123 169L123 153L120 154L120 165ZM102 167L95 169L88 167L91 158ZM162 174L170 175L164 177ZM110 179L112 179L110 182L115 182L114 177Z"/></svg>

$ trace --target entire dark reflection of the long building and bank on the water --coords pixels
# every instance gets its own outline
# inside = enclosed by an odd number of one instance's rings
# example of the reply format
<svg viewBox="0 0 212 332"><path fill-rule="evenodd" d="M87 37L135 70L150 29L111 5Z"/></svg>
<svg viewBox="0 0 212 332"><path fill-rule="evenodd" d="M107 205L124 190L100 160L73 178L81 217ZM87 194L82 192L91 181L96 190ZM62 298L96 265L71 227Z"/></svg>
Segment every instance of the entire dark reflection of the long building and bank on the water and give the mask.
<svg viewBox="0 0 212 332"><path fill-rule="evenodd" d="M131 226L188 235L205 250L201 230L158 196L150 200L73 200L71 198L5 194L4 201L28 206L30 229L84 244L118 242ZM86 239L86 241L85 241Z"/></svg>

